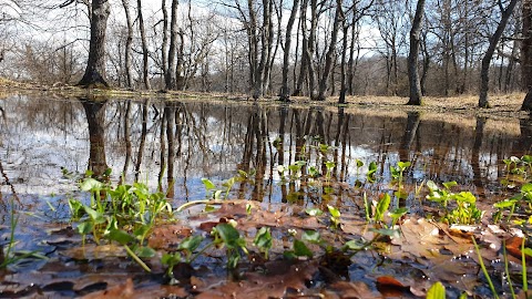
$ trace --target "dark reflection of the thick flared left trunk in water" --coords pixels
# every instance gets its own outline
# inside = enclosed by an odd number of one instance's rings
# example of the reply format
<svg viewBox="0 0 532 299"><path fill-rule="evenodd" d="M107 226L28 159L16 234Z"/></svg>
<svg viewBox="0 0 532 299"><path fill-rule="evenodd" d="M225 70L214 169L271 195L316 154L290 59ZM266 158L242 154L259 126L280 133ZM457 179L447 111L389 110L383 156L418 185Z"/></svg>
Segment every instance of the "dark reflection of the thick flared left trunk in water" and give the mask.
<svg viewBox="0 0 532 299"><path fill-rule="evenodd" d="M108 169L105 159L105 102L93 102L82 99L83 109L85 110L86 122L89 124L89 165L94 177L101 177Z"/></svg>

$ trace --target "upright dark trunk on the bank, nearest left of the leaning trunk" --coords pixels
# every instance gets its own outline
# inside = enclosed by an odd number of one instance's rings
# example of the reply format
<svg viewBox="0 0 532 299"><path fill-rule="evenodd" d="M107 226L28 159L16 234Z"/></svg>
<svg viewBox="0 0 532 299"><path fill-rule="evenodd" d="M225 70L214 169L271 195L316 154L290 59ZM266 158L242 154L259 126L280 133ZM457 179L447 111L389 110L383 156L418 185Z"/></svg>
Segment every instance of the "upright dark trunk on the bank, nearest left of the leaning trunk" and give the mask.
<svg viewBox="0 0 532 299"><path fill-rule="evenodd" d="M418 61L419 43L421 38L421 22L424 14L424 0L418 0L416 16L410 30L410 53L408 54L408 82L410 84L410 100L408 105L421 105L421 82L419 80Z"/></svg>

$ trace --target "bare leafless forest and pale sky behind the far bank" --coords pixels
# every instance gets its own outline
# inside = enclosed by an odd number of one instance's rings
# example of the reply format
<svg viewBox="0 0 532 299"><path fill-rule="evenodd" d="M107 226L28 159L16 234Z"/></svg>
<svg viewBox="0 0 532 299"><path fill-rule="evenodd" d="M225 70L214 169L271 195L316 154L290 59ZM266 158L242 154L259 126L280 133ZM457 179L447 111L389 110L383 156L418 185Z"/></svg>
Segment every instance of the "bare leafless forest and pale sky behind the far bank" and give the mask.
<svg viewBox="0 0 532 299"><path fill-rule="evenodd" d="M419 34L423 95L526 91L526 0L427 0ZM516 7L510 7L512 3ZM95 6L96 4L96 6ZM418 1L6 0L0 75L75 84L92 21L105 19L103 73L116 87L277 95L409 95ZM104 12L104 13L102 13ZM106 16L104 16L106 13ZM323 93L323 94L320 94Z"/></svg>

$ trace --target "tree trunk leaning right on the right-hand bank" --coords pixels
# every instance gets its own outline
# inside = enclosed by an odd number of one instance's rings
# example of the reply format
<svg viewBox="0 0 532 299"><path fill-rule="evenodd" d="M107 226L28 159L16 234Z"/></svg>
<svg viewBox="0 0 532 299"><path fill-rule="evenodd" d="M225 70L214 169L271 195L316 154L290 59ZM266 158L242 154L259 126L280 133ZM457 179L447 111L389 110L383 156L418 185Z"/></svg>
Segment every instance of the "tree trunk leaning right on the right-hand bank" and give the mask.
<svg viewBox="0 0 532 299"><path fill-rule="evenodd" d="M499 6L502 8L501 1L502 0L499 0ZM490 45L488 47L488 50L485 51L485 54L482 58L482 68L480 70L479 107L490 107L490 103L488 101L488 91L490 87L489 84L490 84L491 58L495 52L497 43L499 43L499 40L501 39L502 33L504 32L504 28L507 28L508 20L510 19L510 16L512 16L513 9L515 8L516 3L518 3L518 0L512 0L510 4L508 4L507 9L503 9L501 11L502 12L501 22L497 25L495 33L493 33L493 35L490 38Z"/></svg>

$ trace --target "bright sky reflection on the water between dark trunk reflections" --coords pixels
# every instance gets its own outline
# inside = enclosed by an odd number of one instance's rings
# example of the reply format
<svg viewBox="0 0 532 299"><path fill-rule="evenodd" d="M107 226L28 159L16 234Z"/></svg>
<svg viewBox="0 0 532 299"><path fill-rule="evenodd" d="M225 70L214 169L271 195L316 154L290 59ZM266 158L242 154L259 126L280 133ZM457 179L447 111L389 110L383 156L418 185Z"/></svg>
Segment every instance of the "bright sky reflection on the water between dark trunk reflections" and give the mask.
<svg viewBox="0 0 532 299"><path fill-rule="evenodd" d="M103 124L106 162L113 168L115 182L125 162L124 103L109 102L108 118ZM72 181L62 178L61 167L78 173L84 173L86 169L90 142L81 103L78 100L13 96L3 100L1 105L6 110L7 122L0 126L0 158L16 189L21 194L42 196L75 190ZM162 120L163 105L162 102L151 102L146 143L139 176L152 188L155 188L160 181L161 167L167 167L168 157L165 154L165 162L162 165L160 150L162 126L165 123ZM129 182L133 179L137 162L142 132L141 106L142 102L132 102L130 113L132 157L126 169ZM153 106L157 107L158 115ZM295 135L296 120L301 122L299 132L305 130L304 122L310 122L311 136L317 135L323 125L321 130L326 135L324 142L337 146L336 174L340 175L341 169L344 181L349 186L352 187L357 179L366 182L367 166L370 162L376 162L379 185L375 187L375 192L390 190L390 166L406 159L412 162L412 167L406 174L406 181L411 184L420 184L427 179L458 181L475 188L487 186L493 188L502 172L499 159L510 156L510 153L524 153L519 148L519 135L487 131L484 141L489 142L484 142L479 150L479 163L472 163L474 127L423 120L420 121L416 138L410 138L412 143L408 145L409 150L401 150L405 140L408 140L405 138L406 115L388 118L368 116L364 113L352 114L348 124L338 124L338 113L332 107L332 112L316 110L311 111L314 114L309 114L309 110L298 110L297 115L294 110L285 110L283 153L277 153L274 141L279 136L279 110L268 106L263 107L260 113L255 113L257 110L256 106L238 107L234 104L201 102L177 105L174 127L176 150L174 197L177 200L204 198L202 177L208 177L221 186L224 181L235 176L238 168L253 169L260 163L264 165L263 198L280 200L283 190L279 185L282 178L277 172L277 161L279 154L284 154L285 166L298 159L295 155L296 142L303 136ZM321 113L323 124L317 121L317 113ZM347 122L347 117L344 117L344 121ZM247 127L249 123L260 124L257 127L264 132L253 132ZM338 130L341 134L336 134ZM257 157L257 140L263 142L264 161ZM167 140L164 142L167 147ZM246 153L250 155L246 156ZM316 165L316 151L310 153L308 163ZM245 161L245 157L248 161ZM329 152L326 159L335 159L332 152ZM357 159L365 164L359 169ZM274 165L270 165L272 161ZM474 175L480 175L480 179L474 179ZM162 182L166 184L166 175ZM258 188L249 185L245 189L239 187L239 184L235 185L232 196L250 198L254 189ZM9 192L7 186L2 186L1 190Z"/></svg>

